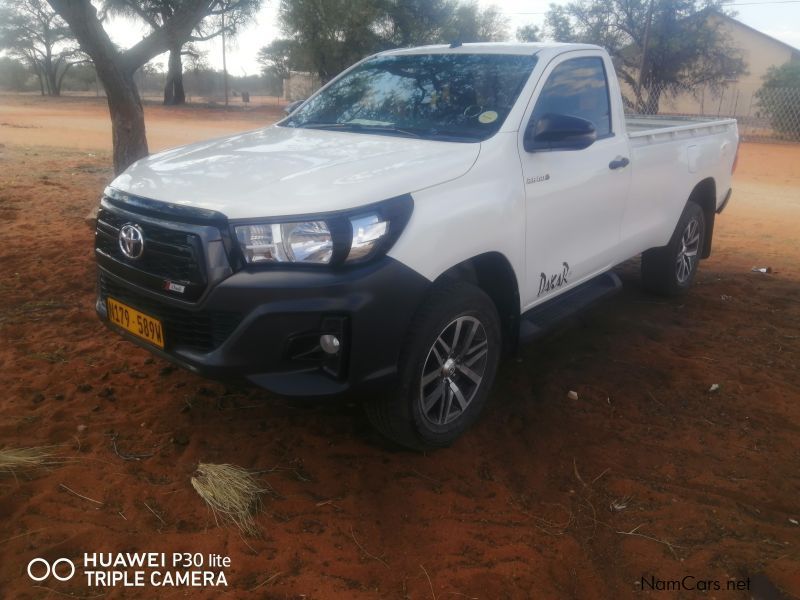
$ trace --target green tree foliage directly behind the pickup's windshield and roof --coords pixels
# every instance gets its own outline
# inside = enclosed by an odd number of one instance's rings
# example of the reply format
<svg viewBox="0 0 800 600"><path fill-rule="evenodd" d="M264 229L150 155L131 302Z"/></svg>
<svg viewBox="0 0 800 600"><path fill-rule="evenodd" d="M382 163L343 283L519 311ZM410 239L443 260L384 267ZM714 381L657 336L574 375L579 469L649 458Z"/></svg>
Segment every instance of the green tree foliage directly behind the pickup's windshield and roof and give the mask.
<svg viewBox="0 0 800 600"><path fill-rule="evenodd" d="M286 39L259 52L265 72L311 70L322 81L380 50L494 41L507 25L494 7L457 0L281 0L279 18Z"/></svg>

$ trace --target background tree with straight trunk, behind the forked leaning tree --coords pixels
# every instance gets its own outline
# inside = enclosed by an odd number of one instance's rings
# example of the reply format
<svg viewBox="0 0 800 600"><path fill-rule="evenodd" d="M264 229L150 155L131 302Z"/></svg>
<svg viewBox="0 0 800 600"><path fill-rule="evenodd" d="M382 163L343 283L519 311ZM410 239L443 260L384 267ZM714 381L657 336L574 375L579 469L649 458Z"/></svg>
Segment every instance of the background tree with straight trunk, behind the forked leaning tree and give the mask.
<svg viewBox="0 0 800 600"><path fill-rule="evenodd" d="M164 26L180 9L185 0L106 0L105 9L128 18L141 19L154 31ZM167 60L167 79L164 84L164 104L175 105L186 102L183 87L183 57L191 56L194 49L184 49L187 43L204 42L222 35L235 35L238 29L250 21L261 7L263 0L220 0L184 39L170 40Z"/></svg>

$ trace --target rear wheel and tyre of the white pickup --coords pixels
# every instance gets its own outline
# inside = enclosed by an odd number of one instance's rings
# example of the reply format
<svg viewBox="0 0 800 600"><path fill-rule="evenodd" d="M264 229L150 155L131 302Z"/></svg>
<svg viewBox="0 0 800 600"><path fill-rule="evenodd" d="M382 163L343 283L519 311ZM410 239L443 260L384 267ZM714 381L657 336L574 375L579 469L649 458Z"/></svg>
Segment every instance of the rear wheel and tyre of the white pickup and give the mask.
<svg viewBox="0 0 800 600"><path fill-rule="evenodd" d="M687 202L669 243L642 254L642 286L662 296L680 296L691 287L706 237L703 209Z"/></svg>

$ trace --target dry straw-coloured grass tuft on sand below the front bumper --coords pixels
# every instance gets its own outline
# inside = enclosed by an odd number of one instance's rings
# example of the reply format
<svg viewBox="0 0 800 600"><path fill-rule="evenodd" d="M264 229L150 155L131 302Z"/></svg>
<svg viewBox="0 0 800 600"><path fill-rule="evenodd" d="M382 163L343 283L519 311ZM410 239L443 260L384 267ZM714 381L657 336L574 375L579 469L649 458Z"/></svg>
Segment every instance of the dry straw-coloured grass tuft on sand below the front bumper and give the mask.
<svg viewBox="0 0 800 600"><path fill-rule="evenodd" d="M258 533L255 514L261 508L261 494L269 490L259 486L249 471L234 465L200 463L191 481L214 518L219 516L244 533Z"/></svg>

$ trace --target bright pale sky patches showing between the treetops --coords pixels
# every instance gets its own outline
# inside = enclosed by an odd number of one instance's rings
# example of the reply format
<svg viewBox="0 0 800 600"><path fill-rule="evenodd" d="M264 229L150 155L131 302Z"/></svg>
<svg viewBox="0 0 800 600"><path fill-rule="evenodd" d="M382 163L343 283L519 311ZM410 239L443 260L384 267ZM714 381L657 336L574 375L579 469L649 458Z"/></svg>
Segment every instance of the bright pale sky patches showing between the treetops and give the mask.
<svg viewBox="0 0 800 600"><path fill-rule="evenodd" d="M544 24L544 13L550 4L567 4L570 0L479 0L482 7L496 6L508 19L509 40L514 40L518 27ZM255 75L258 50L280 37L277 13L280 0L267 0L256 20L244 28L236 39L228 40L228 72L232 75ZM733 0L736 18L759 31L800 48L800 0ZM133 23L116 19L109 25L112 39L123 47L136 43L147 31ZM222 68L222 42L215 39L200 46L208 52L208 63ZM163 62L163 60L162 60Z"/></svg>

